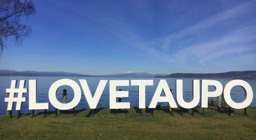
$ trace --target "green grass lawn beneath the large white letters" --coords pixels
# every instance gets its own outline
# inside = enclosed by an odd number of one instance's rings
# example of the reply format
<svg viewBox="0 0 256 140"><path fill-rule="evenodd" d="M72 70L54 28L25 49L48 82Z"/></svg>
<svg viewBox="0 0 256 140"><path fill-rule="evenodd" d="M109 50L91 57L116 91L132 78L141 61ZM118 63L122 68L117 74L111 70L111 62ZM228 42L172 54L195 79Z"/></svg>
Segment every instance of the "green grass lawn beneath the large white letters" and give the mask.
<svg viewBox="0 0 256 140"><path fill-rule="evenodd" d="M228 108L221 112L217 107L209 106L202 116L202 108L184 109L184 117L179 108L174 109L175 117L162 107L154 111L153 116L139 116L138 109L131 107L129 113L110 113L109 108L75 110L75 117L70 110L55 112L24 113L16 119L0 117L0 139L256 139L256 108L231 108L234 117L228 114ZM137 110L137 111L136 111ZM149 109L143 110L149 115ZM146 111L146 112L145 112Z"/></svg>

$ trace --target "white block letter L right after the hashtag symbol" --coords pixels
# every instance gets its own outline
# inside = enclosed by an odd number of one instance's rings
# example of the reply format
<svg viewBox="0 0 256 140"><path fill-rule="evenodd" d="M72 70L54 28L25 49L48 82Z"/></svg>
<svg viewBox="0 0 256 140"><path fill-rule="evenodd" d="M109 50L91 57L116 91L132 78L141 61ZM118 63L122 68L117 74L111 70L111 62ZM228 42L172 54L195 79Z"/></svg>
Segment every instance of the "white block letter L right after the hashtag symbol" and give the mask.
<svg viewBox="0 0 256 140"><path fill-rule="evenodd" d="M37 81L29 80L29 110L49 109L49 103L36 103L37 100Z"/></svg>

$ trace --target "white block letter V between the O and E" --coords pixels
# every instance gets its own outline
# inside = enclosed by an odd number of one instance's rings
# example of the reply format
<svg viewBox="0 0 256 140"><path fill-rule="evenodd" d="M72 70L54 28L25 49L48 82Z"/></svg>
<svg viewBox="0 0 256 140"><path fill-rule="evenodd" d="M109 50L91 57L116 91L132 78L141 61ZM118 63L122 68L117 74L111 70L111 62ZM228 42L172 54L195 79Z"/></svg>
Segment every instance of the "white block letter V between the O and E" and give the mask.
<svg viewBox="0 0 256 140"><path fill-rule="evenodd" d="M85 98L88 102L90 109L95 109L107 84L107 80L100 81L93 97L86 80L79 80L79 82L82 86L82 90L84 91Z"/></svg>

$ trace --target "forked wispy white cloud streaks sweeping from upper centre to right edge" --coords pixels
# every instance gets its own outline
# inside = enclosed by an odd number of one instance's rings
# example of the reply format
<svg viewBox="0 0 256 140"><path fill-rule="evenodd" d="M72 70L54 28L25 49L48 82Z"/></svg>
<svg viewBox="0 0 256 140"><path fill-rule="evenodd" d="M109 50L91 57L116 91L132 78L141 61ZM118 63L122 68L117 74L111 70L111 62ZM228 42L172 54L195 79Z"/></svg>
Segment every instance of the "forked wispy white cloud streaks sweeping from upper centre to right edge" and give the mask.
<svg viewBox="0 0 256 140"><path fill-rule="evenodd" d="M152 56L165 62L173 63L174 65L187 65L190 69L200 69L198 65L205 66L208 62L219 58L225 59L224 56L236 54L239 59L245 56L251 56L250 53L256 51L256 24L255 21L250 23L249 27L245 27L243 23L248 21L241 21L240 27L235 27L232 31L225 32L221 36L214 36L207 40L195 40L191 46L185 48L172 49L172 42L177 42L187 36L194 36L198 32L208 33L209 29L222 24L225 21L241 17L248 13L255 12L256 2L249 1L241 5L235 6L229 10L217 13L207 19L199 21L191 27L180 29L177 32L171 33L167 36L160 36L154 39L144 37L139 30L134 29L129 23L122 20L119 14L108 13L100 9L89 9L85 12L76 12L84 18L90 18L99 23L105 30L112 33L120 40L124 41L126 47L133 47L142 53ZM85 13L85 14L84 14ZM246 55L248 54L248 55ZM253 55L252 55L253 56ZM231 59L231 58L229 58ZM255 60L255 57L250 57L250 61ZM191 65L190 65L191 64Z"/></svg>

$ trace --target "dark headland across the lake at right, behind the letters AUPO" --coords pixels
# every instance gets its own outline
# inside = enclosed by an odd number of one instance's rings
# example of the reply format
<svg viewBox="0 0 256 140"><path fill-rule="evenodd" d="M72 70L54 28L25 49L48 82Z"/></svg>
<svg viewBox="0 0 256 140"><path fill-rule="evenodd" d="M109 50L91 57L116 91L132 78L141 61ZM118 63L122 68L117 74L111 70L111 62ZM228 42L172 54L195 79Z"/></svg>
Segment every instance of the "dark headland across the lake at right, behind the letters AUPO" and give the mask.
<svg viewBox="0 0 256 140"><path fill-rule="evenodd" d="M164 78L230 78L230 79L256 79L256 71L231 71L224 73L174 73Z"/></svg>

